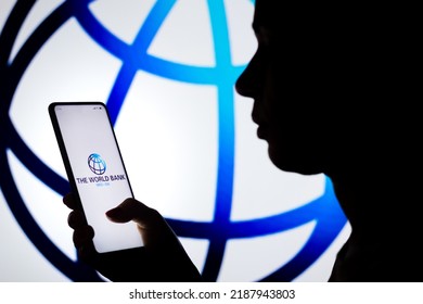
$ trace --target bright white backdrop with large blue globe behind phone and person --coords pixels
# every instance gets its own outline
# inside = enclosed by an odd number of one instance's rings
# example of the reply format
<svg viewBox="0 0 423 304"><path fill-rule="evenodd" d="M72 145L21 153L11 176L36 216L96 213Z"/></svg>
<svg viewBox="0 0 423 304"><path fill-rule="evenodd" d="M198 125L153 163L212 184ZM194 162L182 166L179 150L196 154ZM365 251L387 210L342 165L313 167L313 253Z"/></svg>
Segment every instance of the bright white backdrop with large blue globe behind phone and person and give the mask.
<svg viewBox="0 0 423 304"><path fill-rule="evenodd" d="M136 198L166 217L205 280L300 280L322 263L347 224L331 181L277 170L234 91L256 48L254 1L2 5L0 188L52 267L103 280L79 263L61 204L69 186L47 112L59 100L107 104ZM106 169L98 154L88 164Z"/></svg>

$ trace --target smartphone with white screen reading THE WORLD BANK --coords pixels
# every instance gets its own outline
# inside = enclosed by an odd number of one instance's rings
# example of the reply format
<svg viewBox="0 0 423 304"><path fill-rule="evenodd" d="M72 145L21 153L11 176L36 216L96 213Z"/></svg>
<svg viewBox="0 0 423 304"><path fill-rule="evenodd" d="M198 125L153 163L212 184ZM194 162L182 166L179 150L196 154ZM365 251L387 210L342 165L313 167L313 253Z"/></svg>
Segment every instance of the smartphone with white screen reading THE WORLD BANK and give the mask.
<svg viewBox="0 0 423 304"><path fill-rule="evenodd" d="M143 246L133 221L113 223L105 212L133 198L116 136L104 103L53 102L49 115L70 189L94 229L98 253Z"/></svg>

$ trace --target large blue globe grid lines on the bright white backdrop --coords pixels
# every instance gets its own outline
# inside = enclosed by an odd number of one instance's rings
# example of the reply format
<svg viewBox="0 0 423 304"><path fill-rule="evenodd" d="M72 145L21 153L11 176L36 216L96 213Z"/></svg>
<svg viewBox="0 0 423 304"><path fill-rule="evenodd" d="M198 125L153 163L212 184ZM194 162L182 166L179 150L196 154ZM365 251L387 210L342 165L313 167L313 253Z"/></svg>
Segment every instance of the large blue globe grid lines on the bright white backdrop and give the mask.
<svg viewBox="0 0 423 304"><path fill-rule="evenodd" d="M254 5L254 1L245 0ZM211 221L179 220L167 218L179 237L208 240L209 246L202 275L207 281L216 281L221 269L229 240L262 237L294 229L307 223L316 223L306 243L286 264L262 277L259 281L292 281L313 264L332 244L346 225L332 183L326 178L324 193L302 205L280 214L249 220L231 220L234 179L234 93L233 84L245 64L234 65L228 60L230 39L223 0L208 0L216 65L194 66L156 58L148 48L176 4L175 0L157 0L145 18L133 43L128 45L113 35L92 14L88 0L68 0L55 8L34 30L9 63L12 46L18 29L33 9L33 1L17 1L0 34L0 187L16 220L39 252L57 269L74 281L102 281L103 279L79 261L69 259L37 225L16 187L8 162L11 150L18 160L53 191L64 195L69 191L68 181L46 165L26 144L13 125L9 111L20 81L42 46L69 18L77 21L87 35L104 51L124 63L110 90L106 101L111 121L116 123L125 103L134 75L144 71L161 77L194 85L209 85L217 88L218 105L218 168L215 195L215 212ZM8 33L5 35L4 33ZM10 34L13 35L10 35ZM8 135L8 136L4 136ZM91 157L92 156L92 157ZM104 174L105 163L92 154L88 161L95 174ZM282 251L283 249L281 249Z"/></svg>

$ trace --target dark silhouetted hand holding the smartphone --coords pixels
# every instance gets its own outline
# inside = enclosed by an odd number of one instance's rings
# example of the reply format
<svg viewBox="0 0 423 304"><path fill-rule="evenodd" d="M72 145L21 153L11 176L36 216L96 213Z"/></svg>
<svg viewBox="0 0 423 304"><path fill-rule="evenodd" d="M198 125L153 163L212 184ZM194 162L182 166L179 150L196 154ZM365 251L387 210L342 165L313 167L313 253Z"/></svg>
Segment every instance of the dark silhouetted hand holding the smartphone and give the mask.
<svg viewBox="0 0 423 304"><path fill-rule="evenodd" d="M92 238L94 230L77 210L72 193L63 198L72 212L68 225L74 229L74 244L79 258L112 281L201 281L178 237L166 219L143 203L127 199L105 216L115 223L133 220L144 246L112 253L97 253Z"/></svg>

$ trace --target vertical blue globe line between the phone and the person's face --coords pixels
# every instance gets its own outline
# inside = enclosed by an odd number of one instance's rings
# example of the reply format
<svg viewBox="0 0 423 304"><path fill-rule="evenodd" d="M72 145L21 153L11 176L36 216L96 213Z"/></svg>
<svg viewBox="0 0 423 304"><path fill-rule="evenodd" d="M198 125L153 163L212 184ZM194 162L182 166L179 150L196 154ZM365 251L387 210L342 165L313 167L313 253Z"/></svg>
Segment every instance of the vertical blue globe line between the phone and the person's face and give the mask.
<svg viewBox="0 0 423 304"><path fill-rule="evenodd" d="M207 3L209 7L208 12L210 12L211 36L215 46L216 71L221 72L221 69L225 69L221 66L232 66L226 7L222 0L208 0ZM217 186L213 227L215 230L221 231L222 228L228 228L230 225L232 210L235 114L233 104L233 79L231 77L215 77L213 80L218 88L219 122ZM203 269L205 280L217 280L220 266L222 265L227 241L227 233L214 232L209 235L209 249Z"/></svg>

